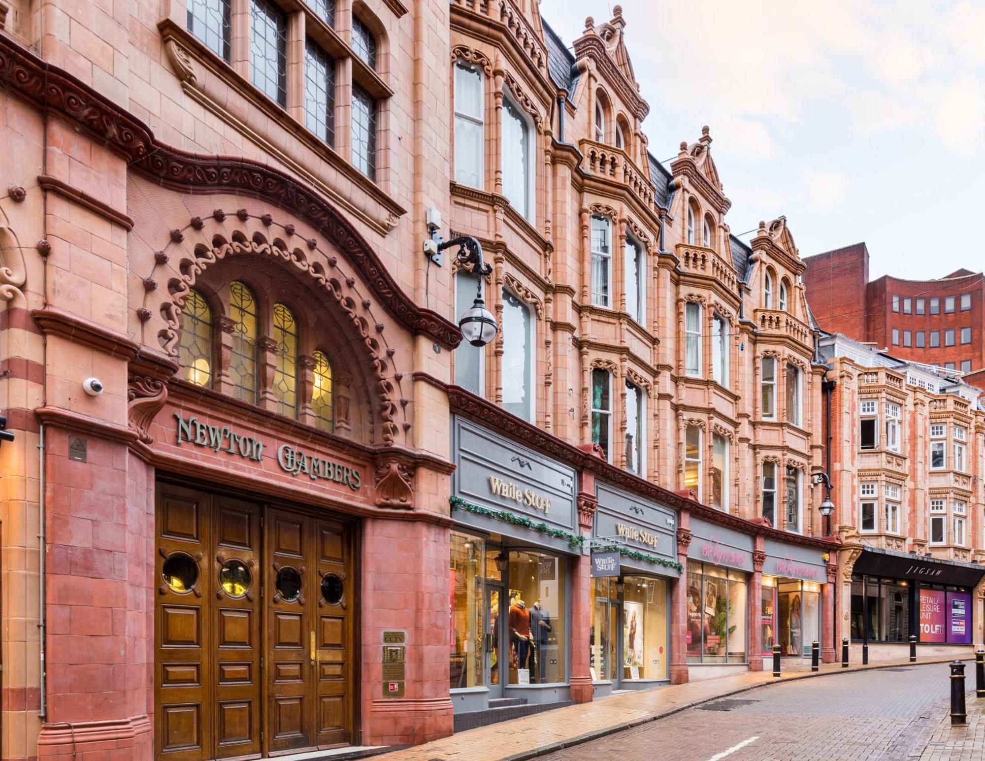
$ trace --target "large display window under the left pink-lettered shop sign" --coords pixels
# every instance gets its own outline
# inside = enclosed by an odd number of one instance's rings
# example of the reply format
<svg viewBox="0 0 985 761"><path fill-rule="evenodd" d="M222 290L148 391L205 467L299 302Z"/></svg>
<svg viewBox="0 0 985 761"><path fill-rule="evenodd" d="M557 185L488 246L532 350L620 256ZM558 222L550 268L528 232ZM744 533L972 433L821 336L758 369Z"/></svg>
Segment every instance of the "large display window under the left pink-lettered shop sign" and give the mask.
<svg viewBox="0 0 985 761"><path fill-rule="evenodd" d="M689 663L746 662L746 575L688 563Z"/></svg>

